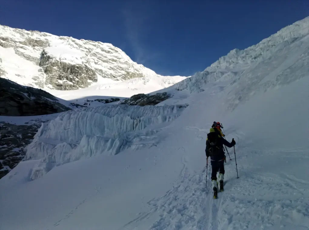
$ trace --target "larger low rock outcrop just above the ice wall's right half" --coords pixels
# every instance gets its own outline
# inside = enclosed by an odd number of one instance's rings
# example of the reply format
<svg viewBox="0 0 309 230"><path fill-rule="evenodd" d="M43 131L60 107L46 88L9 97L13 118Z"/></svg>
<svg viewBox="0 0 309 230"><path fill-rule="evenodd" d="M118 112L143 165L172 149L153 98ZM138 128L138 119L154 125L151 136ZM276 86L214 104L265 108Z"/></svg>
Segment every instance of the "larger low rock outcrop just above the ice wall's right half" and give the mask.
<svg viewBox="0 0 309 230"><path fill-rule="evenodd" d="M165 101L166 99L171 98L171 94L164 93L156 93L153 95L150 94L136 94L132 97L123 100L119 104L127 104L127 105L156 105L160 102Z"/></svg>

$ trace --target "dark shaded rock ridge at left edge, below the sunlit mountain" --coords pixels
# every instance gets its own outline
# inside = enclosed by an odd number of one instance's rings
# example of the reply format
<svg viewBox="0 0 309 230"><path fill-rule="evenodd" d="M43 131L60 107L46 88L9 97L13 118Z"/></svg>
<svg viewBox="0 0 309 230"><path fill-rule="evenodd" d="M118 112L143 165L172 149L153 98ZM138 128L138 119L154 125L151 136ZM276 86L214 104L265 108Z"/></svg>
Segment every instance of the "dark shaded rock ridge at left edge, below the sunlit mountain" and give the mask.
<svg viewBox="0 0 309 230"><path fill-rule="evenodd" d="M34 116L68 111L57 98L45 92L0 78L0 115Z"/></svg>

